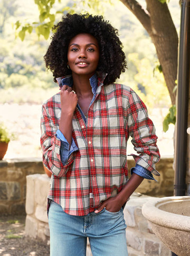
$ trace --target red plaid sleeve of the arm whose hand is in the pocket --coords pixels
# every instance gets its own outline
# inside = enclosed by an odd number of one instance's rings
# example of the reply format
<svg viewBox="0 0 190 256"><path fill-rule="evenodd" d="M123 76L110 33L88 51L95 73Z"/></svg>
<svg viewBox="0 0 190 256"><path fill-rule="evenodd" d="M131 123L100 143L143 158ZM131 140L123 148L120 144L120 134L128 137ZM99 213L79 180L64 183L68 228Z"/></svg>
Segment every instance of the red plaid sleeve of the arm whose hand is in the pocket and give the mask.
<svg viewBox="0 0 190 256"><path fill-rule="evenodd" d="M139 96L130 91L128 102L128 131L132 137L132 144L138 155L130 154L134 157L136 164L142 166L147 171L159 176L155 170L155 164L160 159L159 149L156 145L156 130L148 117L146 105Z"/></svg>

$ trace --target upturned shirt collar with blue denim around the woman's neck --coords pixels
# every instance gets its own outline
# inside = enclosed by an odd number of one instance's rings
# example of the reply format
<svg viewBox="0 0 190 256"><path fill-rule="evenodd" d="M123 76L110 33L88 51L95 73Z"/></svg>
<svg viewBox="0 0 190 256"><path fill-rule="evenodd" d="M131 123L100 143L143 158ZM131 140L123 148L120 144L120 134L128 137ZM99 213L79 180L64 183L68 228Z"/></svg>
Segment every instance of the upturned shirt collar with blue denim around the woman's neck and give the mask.
<svg viewBox="0 0 190 256"><path fill-rule="evenodd" d="M92 86L93 94L96 94L97 88L99 86L103 85L103 81L105 80L106 76L107 76L107 74L105 74L105 73L97 72L93 76L90 77L90 85ZM62 88L62 86L64 84L68 85L70 87L72 87L72 85L73 85L72 75L58 77L58 78L56 78L56 81L58 82L60 89Z"/></svg>

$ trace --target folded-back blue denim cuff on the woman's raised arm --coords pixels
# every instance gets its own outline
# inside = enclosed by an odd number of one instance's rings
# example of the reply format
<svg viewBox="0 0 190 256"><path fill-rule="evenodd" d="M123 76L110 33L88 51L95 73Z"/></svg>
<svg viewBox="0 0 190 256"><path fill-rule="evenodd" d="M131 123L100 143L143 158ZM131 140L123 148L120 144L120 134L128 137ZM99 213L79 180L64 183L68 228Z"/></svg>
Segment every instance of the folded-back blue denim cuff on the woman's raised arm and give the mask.
<svg viewBox="0 0 190 256"><path fill-rule="evenodd" d="M79 148L75 144L73 138L72 138L71 146L69 148L69 143L67 139L65 139L64 135L59 129L56 131L56 137L61 140L60 155L61 155L61 162L64 165L65 163L67 163L69 156L74 151L77 151Z"/></svg>

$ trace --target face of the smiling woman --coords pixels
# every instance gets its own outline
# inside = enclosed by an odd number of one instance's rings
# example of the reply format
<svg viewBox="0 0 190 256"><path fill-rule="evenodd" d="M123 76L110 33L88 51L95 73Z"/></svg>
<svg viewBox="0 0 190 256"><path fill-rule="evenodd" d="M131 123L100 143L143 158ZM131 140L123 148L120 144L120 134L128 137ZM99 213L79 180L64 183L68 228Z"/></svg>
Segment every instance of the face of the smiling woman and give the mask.
<svg viewBox="0 0 190 256"><path fill-rule="evenodd" d="M73 37L68 48L68 64L72 75L86 75L90 78L96 72L99 56L98 41L91 34Z"/></svg>

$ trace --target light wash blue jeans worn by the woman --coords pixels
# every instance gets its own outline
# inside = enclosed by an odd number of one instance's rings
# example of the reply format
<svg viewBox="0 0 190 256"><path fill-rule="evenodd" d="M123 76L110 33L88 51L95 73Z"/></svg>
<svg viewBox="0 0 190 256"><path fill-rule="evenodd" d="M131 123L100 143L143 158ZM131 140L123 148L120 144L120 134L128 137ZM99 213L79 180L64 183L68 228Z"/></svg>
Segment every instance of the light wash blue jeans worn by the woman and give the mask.
<svg viewBox="0 0 190 256"><path fill-rule="evenodd" d="M50 255L86 255L87 237L93 256L128 256L124 213L100 213L73 216L51 201L49 209Z"/></svg>

